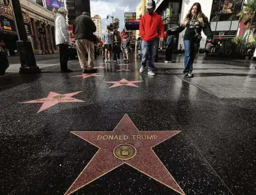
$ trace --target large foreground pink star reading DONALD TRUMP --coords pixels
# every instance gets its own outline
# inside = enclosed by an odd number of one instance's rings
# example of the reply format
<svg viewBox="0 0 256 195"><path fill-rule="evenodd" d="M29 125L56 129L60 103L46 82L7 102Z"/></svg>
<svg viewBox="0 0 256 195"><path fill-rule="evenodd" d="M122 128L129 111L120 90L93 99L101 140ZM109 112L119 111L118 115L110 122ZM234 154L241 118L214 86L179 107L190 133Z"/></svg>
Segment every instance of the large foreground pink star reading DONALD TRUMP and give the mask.
<svg viewBox="0 0 256 195"><path fill-rule="evenodd" d="M180 131L139 131L125 114L114 131L74 131L72 133L99 149L68 188L66 195L72 194L122 164L132 166L179 194L184 194L152 149Z"/></svg>

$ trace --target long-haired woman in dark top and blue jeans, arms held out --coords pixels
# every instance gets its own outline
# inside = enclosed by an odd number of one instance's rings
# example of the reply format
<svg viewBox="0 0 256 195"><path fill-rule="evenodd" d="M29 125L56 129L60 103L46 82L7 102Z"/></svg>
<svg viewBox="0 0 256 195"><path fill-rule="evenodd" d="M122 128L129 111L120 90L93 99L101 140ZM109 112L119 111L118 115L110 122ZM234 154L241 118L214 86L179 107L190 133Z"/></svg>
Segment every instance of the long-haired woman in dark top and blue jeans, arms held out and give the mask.
<svg viewBox="0 0 256 195"><path fill-rule="evenodd" d="M186 32L184 34L185 59L183 73L184 77L193 77L193 61L199 51L202 39L201 31L203 30L209 40L213 37L208 18L203 14L200 3L194 3L182 25L176 31L168 30L167 34L177 34L184 31L184 29L186 29Z"/></svg>

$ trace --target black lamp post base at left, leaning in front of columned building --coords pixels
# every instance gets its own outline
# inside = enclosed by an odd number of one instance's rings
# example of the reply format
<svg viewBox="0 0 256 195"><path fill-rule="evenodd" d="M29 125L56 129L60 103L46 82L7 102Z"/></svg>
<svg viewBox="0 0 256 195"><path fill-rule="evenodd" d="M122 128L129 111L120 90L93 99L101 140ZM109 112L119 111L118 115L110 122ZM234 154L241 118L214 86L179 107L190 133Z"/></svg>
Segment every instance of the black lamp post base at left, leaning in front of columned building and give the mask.
<svg viewBox="0 0 256 195"><path fill-rule="evenodd" d="M36 59L31 42L27 39L23 16L21 12L20 1L11 0L12 12L18 34L17 47L20 54L20 73L40 73L36 66Z"/></svg>

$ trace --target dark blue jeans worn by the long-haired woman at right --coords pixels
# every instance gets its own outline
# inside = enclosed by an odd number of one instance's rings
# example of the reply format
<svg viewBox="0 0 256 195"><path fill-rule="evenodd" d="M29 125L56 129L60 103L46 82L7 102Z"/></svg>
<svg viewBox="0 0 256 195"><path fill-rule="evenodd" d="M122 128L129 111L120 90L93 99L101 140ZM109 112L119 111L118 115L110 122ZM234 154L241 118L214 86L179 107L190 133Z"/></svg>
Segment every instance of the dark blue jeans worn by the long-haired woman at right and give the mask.
<svg viewBox="0 0 256 195"><path fill-rule="evenodd" d="M193 71L193 60L195 60L195 55L197 55L199 44L200 42L197 40L184 40L185 59L183 73Z"/></svg>

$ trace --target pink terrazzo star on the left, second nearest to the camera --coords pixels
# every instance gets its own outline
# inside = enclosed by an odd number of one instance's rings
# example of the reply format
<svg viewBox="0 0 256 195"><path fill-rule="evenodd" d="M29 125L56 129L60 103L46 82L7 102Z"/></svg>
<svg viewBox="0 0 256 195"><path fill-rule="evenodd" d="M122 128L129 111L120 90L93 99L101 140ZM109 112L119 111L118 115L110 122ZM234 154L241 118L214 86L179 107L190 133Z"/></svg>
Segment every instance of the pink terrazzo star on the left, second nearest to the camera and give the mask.
<svg viewBox="0 0 256 195"><path fill-rule="evenodd" d="M76 96L76 94L81 93L80 92L73 92L70 94L57 94L55 92L50 92L50 94L47 96L47 98L42 99L35 99L32 101L25 101L21 103L43 103L40 109L37 113L42 112L43 110L49 109L50 107L53 107L57 103L67 103L67 102L84 102L83 100L72 98L72 96Z"/></svg>

